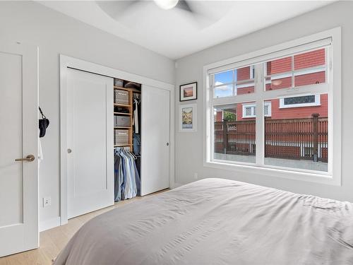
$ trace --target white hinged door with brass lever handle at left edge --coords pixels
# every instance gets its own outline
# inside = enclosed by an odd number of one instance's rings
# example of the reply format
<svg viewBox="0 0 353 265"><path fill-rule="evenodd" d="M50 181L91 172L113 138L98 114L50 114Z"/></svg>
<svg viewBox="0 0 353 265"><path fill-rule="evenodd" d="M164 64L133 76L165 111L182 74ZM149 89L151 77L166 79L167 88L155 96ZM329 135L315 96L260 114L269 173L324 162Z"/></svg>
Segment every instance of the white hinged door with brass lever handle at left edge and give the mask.
<svg viewBox="0 0 353 265"><path fill-rule="evenodd" d="M37 78L37 47L0 42L0 257L39 246Z"/></svg>

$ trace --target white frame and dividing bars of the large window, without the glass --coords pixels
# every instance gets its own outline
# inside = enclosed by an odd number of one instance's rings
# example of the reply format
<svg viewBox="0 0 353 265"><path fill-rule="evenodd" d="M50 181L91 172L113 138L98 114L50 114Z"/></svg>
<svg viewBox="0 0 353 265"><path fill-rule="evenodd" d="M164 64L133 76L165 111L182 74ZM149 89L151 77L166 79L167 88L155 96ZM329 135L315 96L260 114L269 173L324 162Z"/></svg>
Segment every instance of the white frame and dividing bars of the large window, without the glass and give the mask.
<svg viewBox="0 0 353 265"><path fill-rule="evenodd" d="M318 49L328 44L326 83L320 83L298 88L265 91L265 61L289 56L290 54L302 53L311 49ZM260 64L261 63L261 64ZM256 64L254 78L255 93L247 93L228 98L213 98L213 88L210 86L213 73L237 69L244 66ZM275 45L265 49L244 54L231 59L218 61L203 67L204 89L204 166L215 167L223 170L236 170L251 174L266 175L271 177L282 177L295 179L297 181L318 182L324 184L341 185L341 28L333 28L321 33L316 33L297 40ZM259 90L258 88L261 88ZM278 167L264 164L264 118L263 102L276 98L294 97L299 95L312 95L313 88L318 95L328 93L328 172L314 170L300 170L289 167ZM242 163L228 160L215 160L213 142L213 106L229 105L242 102L256 102L256 163ZM211 111L212 110L212 111Z"/></svg>

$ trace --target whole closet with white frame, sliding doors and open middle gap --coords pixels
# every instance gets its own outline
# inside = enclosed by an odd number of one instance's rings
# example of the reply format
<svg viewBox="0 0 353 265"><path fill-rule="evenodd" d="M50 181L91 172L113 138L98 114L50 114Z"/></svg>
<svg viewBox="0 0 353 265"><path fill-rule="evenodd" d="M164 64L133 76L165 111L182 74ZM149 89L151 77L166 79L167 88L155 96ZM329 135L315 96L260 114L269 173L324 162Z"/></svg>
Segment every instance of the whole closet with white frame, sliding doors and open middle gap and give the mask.
<svg viewBox="0 0 353 265"><path fill-rule="evenodd" d="M61 224L170 187L173 88L61 56Z"/></svg>

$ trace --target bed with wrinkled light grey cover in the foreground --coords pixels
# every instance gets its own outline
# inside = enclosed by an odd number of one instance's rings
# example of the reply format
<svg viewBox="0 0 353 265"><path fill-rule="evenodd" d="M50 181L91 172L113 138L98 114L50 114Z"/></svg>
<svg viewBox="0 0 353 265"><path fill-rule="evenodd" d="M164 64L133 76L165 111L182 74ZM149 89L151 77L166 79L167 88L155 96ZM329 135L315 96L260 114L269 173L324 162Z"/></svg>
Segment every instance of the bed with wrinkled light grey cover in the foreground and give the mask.
<svg viewBox="0 0 353 265"><path fill-rule="evenodd" d="M203 179L93 218L54 264L353 264L353 206Z"/></svg>

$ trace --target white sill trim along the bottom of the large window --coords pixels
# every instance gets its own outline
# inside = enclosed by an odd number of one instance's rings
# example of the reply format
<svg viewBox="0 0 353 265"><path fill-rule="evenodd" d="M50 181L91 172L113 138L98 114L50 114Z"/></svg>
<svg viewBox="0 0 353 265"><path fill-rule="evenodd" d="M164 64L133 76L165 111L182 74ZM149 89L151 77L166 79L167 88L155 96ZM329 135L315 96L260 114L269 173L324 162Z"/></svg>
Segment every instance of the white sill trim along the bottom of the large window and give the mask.
<svg viewBox="0 0 353 265"><path fill-rule="evenodd" d="M314 182L320 184L330 184L333 186L341 186L339 176L333 177L328 173L323 174L316 172L294 171L290 169L275 168L268 165L251 165L250 163L225 163L222 160L205 161L205 167L213 167L222 170L234 170L238 172L251 173L253 175L264 175L268 177L280 177L284 179L299 180L304 182Z"/></svg>

